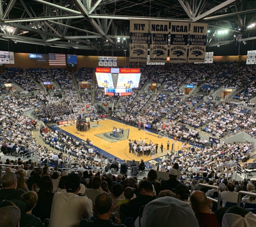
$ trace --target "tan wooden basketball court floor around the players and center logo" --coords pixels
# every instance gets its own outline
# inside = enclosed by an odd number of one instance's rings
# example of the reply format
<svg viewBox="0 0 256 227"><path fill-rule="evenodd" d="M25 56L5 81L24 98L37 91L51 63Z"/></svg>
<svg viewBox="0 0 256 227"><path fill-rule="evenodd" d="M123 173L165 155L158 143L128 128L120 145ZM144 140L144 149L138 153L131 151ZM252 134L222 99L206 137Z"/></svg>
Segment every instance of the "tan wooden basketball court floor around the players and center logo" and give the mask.
<svg viewBox="0 0 256 227"><path fill-rule="evenodd" d="M115 141L113 143L110 143L110 141L107 141L106 139L102 139L102 138L99 138L98 136L95 136L96 134L100 134L100 133L112 132L113 126L117 128L118 127L123 128L124 130L129 129L128 138L121 141ZM155 158L162 157L168 152L168 150L166 150L167 141L168 141L167 138L158 138L158 135L155 133L144 131L143 129L138 130L136 127L133 127L130 125L127 126L127 125L124 125L123 123L116 122L115 120L110 120L110 119L100 120L99 126L96 125L96 122L93 122L91 123L91 130L87 132L77 131L75 125L61 127L61 130L71 133L74 136L84 141L87 138L89 138L89 140L93 141L94 146L101 148L103 151L106 151L119 159L126 159L126 160L135 159L136 161L140 161L140 159L143 158L144 161L151 160L150 156L143 155L143 157L137 157L137 156L134 156L132 153L129 153L129 146L128 146L129 139L139 140L141 138L142 140L144 140L145 138L147 138L146 141L148 143L151 140L154 144L158 144L158 150L157 150L157 154L155 154ZM163 153L161 153L161 149L160 149L161 143L164 146ZM179 141L177 141L177 143L179 145L179 150L181 150L182 143ZM172 142L170 141L170 149L171 149L171 144Z"/></svg>

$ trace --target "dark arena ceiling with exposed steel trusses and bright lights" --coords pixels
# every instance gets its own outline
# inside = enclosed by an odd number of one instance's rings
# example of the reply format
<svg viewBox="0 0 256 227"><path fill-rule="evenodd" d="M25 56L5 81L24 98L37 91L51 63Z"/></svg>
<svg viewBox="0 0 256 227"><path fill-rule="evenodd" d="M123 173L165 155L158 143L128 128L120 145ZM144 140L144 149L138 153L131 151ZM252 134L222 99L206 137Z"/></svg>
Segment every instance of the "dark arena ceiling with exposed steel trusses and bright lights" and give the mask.
<svg viewBox="0 0 256 227"><path fill-rule="evenodd" d="M129 19L208 23L209 47L256 39L255 0L0 0L0 39L123 52Z"/></svg>

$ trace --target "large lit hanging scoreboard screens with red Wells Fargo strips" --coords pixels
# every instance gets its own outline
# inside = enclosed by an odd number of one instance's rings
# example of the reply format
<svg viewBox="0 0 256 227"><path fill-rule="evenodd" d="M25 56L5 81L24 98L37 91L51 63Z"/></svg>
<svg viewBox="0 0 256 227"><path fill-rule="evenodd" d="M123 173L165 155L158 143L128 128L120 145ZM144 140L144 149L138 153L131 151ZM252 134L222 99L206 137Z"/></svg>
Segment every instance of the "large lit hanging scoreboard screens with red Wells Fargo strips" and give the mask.
<svg viewBox="0 0 256 227"><path fill-rule="evenodd" d="M96 68L95 74L100 88L128 89L139 87L141 70L139 68Z"/></svg>

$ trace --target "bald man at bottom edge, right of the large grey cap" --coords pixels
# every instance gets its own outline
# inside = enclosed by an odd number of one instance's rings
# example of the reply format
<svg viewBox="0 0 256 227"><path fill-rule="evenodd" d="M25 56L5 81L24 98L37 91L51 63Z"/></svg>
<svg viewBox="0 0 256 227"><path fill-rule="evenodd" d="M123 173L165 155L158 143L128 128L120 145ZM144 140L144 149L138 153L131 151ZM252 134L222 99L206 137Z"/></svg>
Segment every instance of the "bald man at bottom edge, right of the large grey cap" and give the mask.
<svg viewBox="0 0 256 227"><path fill-rule="evenodd" d="M209 201L203 191L193 191L190 202L200 227L221 227L215 214L211 214Z"/></svg>

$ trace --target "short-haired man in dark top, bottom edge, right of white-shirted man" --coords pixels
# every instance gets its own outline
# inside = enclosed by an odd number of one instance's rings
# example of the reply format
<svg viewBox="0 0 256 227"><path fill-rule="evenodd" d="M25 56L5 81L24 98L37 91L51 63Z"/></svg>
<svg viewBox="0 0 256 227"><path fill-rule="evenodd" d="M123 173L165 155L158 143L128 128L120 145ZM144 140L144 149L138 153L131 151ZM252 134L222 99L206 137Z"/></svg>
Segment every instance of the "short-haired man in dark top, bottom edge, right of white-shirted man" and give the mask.
<svg viewBox="0 0 256 227"><path fill-rule="evenodd" d="M79 227L126 227L126 225L120 224L120 219L116 217L114 223L112 219L109 219L111 213L113 212L113 203L111 196L105 191L102 191L98 196L96 196L95 204L93 204L93 209L96 211L97 214L97 217L94 219L94 221L90 219L83 219L80 222Z"/></svg>

